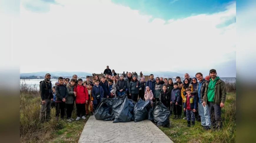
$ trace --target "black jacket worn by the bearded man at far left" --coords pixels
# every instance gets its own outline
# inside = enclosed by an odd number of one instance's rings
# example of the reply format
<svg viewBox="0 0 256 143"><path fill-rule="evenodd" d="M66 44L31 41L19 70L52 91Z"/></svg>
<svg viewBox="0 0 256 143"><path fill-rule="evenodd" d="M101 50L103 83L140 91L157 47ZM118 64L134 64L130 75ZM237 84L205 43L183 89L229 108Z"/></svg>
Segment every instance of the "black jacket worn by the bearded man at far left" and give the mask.
<svg viewBox="0 0 256 143"><path fill-rule="evenodd" d="M39 92L42 100L53 99L51 82L47 82L45 79L40 82Z"/></svg>

